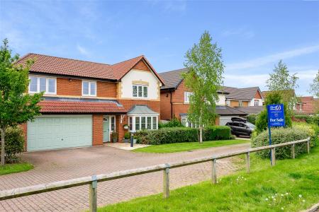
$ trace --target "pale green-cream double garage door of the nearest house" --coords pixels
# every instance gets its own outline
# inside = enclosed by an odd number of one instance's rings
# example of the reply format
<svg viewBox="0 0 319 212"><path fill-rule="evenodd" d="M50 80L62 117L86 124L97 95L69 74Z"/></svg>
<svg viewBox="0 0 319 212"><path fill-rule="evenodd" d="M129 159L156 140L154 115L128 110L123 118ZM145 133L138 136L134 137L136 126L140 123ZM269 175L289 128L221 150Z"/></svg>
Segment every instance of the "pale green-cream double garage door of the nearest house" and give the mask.
<svg viewBox="0 0 319 212"><path fill-rule="evenodd" d="M91 145L91 115L46 115L28 122L28 151Z"/></svg>

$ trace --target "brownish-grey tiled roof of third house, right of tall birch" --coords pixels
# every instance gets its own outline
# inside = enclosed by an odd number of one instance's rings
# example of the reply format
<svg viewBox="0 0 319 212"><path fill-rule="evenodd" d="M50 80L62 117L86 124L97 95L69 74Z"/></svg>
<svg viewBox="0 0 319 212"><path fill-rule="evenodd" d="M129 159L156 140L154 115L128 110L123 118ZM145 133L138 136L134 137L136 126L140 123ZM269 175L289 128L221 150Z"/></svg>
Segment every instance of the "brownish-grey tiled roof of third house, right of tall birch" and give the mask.
<svg viewBox="0 0 319 212"><path fill-rule="evenodd" d="M254 95L256 95L257 91L259 90L259 88L258 87L233 88L233 87L223 86L223 90L229 93L228 95L226 95L226 99L252 100L254 98Z"/></svg>

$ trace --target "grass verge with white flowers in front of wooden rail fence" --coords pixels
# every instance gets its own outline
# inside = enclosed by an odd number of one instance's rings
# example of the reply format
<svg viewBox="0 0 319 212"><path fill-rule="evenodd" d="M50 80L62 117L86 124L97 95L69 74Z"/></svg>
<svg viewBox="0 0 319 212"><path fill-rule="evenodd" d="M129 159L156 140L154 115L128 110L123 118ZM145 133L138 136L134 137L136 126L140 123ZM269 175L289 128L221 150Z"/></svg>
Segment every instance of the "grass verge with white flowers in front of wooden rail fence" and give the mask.
<svg viewBox="0 0 319 212"><path fill-rule="evenodd" d="M162 194L99 208L99 211L300 211L319 200L319 147L295 160L269 160L251 156L252 172L237 172ZM243 165L243 164L242 164Z"/></svg>

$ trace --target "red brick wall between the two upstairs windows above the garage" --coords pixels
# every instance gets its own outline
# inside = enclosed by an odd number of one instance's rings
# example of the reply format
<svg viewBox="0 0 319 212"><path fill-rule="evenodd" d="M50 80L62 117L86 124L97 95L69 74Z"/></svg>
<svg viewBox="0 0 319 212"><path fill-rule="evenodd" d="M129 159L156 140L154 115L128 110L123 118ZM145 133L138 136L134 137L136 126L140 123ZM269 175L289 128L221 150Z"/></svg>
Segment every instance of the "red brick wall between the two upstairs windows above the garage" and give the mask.
<svg viewBox="0 0 319 212"><path fill-rule="evenodd" d="M57 78L57 95L82 95L82 81L79 79Z"/></svg>

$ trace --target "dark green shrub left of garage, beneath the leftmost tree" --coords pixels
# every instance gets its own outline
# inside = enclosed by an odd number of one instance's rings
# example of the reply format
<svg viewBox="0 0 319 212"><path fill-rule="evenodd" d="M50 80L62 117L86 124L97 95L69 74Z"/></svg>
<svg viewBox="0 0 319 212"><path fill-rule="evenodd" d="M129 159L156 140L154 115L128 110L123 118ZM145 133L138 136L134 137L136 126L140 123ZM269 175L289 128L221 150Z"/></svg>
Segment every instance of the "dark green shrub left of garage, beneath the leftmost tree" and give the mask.
<svg viewBox="0 0 319 212"><path fill-rule="evenodd" d="M0 131L1 137L1 131ZM20 157L20 153L24 150L24 137L23 131L20 127L9 127L6 129L6 146L4 146L6 151L6 162L14 163L17 162ZM1 144L0 144L1 147ZM0 153L1 155L1 153Z"/></svg>

